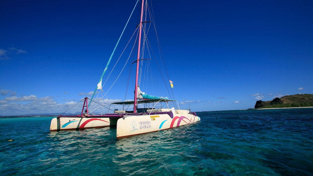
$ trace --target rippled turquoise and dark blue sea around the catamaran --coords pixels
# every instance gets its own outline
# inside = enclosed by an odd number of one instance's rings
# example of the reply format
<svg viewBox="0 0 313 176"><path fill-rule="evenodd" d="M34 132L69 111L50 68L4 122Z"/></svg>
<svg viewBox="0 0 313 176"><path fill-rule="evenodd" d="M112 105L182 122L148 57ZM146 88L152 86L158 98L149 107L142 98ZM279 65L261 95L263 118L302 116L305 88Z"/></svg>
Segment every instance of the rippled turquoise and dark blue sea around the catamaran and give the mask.
<svg viewBox="0 0 313 176"><path fill-rule="evenodd" d="M198 112L198 123L116 139L0 118L0 175L313 175L313 108Z"/></svg>

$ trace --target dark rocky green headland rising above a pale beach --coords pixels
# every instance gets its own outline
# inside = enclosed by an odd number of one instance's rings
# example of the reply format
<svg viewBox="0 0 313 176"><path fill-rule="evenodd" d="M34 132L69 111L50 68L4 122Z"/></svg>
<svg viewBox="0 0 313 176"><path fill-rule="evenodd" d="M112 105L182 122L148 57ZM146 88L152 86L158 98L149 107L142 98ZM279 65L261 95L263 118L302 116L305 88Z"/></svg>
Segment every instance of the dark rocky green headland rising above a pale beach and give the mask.
<svg viewBox="0 0 313 176"><path fill-rule="evenodd" d="M271 101L256 101L254 108L296 108L313 107L313 94L287 95Z"/></svg>

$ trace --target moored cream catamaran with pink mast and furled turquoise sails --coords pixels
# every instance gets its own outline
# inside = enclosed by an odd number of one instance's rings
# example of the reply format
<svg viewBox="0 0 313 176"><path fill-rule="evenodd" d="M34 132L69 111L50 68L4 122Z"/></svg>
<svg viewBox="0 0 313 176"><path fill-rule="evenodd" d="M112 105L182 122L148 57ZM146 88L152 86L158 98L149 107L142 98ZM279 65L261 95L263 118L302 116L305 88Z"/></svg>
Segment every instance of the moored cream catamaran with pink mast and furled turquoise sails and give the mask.
<svg viewBox="0 0 313 176"><path fill-rule="evenodd" d="M135 8L138 4L138 1L135 5ZM142 69L143 66L140 63L144 62L144 60L150 60L143 58L144 57L143 50L145 46L148 47L150 45L150 42L146 38L148 30L150 28L150 25L147 26L147 23L153 23L153 26L155 26L153 19L151 21L146 21L147 17L148 16L151 17L152 14L147 13L151 12L150 8L151 7L149 7L147 1L142 0L140 22L136 28L137 31L136 41L138 44L137 54L136 58L134 59L135 61L131 63L131 65L136 64L136 73L135 73L136 78L135 86L133 89L134 92L133 101L125 100L121 102L111 102L103 104L103 101L102 103L97 103L95 101L95 99L99 98L96 97L94 99L94 95L96 92L98 92L99 95L99 93L102 93L103 91L102 79L109 66L115 48L117 47L117 44L121 39L120 37L101 75L101 78L96 86L96 89L92 97L91 98L85 97L83 99L84 104L80 115L61 114L57 116L57 118L53 118L51 120L50 131L80 130L85 128L103 128L106 126L116 125L116 138L125 138L133 135L155 132L200 121L200 117L198 117L195 112L190 112L190 109L189 110L180 109L178 102L176 100L172 100L167 97L158 97L154 95L149 95L144 92L141 92L139 79L141 78L140 75L142 74L142 70L144 69ZM141 39L142 36L143 39ZM141 42L143 44L141 44ZM164 80L165 79L163 78L163 81ZM166 81L164 81L164 83L165 82ZM173 82L171 80L169 80L169 82L171 87L170 89L172 89ZM105 95L106 94L107 93L105 93ZM102 98L103 97L104 96L102 96ZM90 110L90 107L93 107L93 110ZM107 109L105 113L100 114L95 113L97 109L99 110L100 108L104 107ZM129 109L130 107L131 109Z"/></svg>

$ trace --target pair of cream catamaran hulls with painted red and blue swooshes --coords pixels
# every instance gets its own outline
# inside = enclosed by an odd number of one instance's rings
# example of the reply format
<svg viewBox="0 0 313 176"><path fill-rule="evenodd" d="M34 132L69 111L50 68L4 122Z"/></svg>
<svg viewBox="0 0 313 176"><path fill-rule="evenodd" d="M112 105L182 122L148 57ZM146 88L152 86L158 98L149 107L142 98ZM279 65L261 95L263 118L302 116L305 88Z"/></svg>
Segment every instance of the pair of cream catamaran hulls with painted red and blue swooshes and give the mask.
<svg viewBox="0 0 313 176"><path fill-rule="evenodd" d="M100 116L58 116L53 118L50 131L78 130L85 128L103 128L110 125L116 126L116 138L149 133L168 128L178 127L200 121L197 115L189 113L162 113L143 115L121 115L119 117Z"/></svg>

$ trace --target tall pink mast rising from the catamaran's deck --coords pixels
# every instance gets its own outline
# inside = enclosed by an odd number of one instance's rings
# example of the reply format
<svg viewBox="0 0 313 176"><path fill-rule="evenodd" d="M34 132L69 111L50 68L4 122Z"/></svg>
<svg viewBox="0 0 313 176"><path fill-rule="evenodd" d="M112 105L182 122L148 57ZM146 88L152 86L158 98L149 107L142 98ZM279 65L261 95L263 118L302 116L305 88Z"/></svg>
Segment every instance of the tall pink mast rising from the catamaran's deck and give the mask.
<svg viewBox="0 0 313 176"><path fill-rule="evenodd" d="M135 98L134 98L134 113L137 112L137 90L138 90L138 73L139 73L139 58L140 58L140 42L141 42L141 28L142 28L142 18L143 18L143 3L141 4L141 18L139 24L139 41L138 41L138 54L137 54L137 68L136 68L136 82L135 82Z"/></svg>

